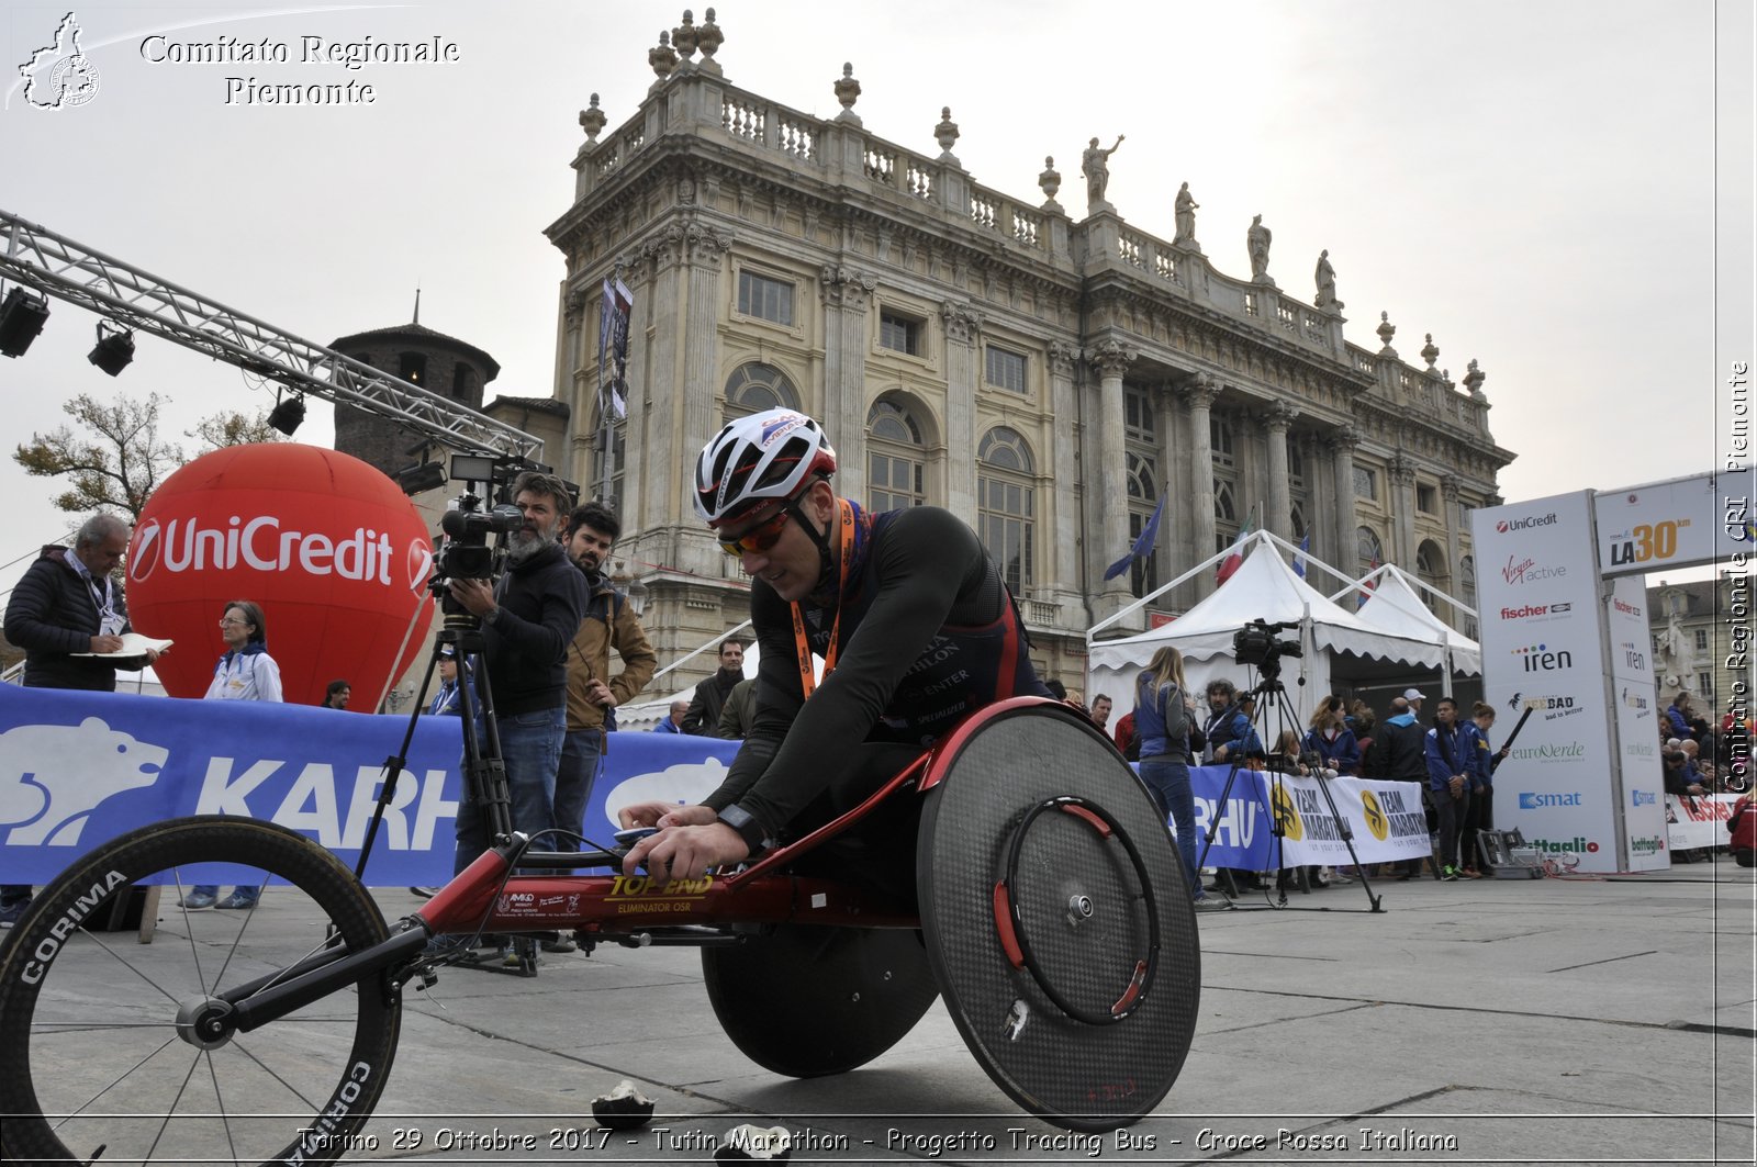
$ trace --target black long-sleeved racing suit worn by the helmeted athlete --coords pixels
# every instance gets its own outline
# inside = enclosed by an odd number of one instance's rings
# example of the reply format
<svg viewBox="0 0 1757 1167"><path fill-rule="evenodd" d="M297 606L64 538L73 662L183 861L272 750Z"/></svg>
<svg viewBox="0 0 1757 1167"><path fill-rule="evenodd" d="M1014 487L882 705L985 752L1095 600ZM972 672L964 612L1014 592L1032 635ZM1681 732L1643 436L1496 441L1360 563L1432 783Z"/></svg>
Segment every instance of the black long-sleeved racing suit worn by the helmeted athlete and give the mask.
<svg viewBox="0 0 1757 1167"><path fill-rule="evenodd" d="M799 603L815 656L828 654L840 610L836 666L810 701L791 605L763 580L750 587L761 645L756 717L705 803L736 803L771 838L857 805L972 712L1010 696L1049 696L1012 596L968 526L936 506L873 515L870 529L866 518L857 513L843 594L828 606ZM914 886L919 801L893 800L886 812L859 837L868 859L889 868L878 884L901 895Z"/></svg>

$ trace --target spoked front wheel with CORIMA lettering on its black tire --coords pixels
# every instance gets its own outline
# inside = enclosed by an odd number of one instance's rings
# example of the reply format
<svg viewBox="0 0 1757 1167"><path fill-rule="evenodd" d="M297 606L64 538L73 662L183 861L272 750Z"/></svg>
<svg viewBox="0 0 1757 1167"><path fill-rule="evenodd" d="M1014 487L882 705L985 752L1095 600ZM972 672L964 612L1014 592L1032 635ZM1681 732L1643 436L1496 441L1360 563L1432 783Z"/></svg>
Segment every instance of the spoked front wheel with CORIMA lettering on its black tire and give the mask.
<svg viewBox="0 0 1757 1167"><path fill-rule="evenodd" d="M192 912L183 896L197 882L265 888L251 910ZM160 884L151 942L128 921L128 898L137 917L148 895L130 884ZM127 931L100 930L118 923ZM353 1149L397 1047L401 998L388 982L369 979L213 1049L177 1028L179 1005L285 968L330 931L350 951L387 937L353 873L272 823L174 819L83 856L0 942L5 1158L329 1163ZM325 1113L334 1118L318 1125Z"/></svg>

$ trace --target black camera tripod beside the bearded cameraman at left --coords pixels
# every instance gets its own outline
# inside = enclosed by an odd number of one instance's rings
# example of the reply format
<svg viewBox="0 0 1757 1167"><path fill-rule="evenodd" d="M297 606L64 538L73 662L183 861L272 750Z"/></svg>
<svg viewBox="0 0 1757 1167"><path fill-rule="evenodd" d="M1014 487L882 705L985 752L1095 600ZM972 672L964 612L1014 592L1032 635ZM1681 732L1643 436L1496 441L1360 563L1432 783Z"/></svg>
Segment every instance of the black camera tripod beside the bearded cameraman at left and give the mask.
<svg viewBox="0 0 1757 1167"><path fill-rule="evenodd" d="M464 731L464 801L476 803L487 823L488 847L503 847L513 838L513 801L506 780L506 761L501 752L501 729L494 717L494 685L488 682L488 670L471 673L469 659L480 657L487 649L481 620L450 594L443 592L439 580L432 589L441 594L443 626L434 633L432 652L427 654L427 671L422 675L420 691L409 710L409 724L402 733L402 745L385 759L385 782L378 793L378 805L367 821L365 842L360 845L360 861L355 865L355 877L365 877L365 861L372 854L372 840L378 838L378 824L390 808L397 793L397 779L408 770L409 745L415 742L415 726L427 712L427 692L432 687L434 671L446 649L457 661L457 699L459 721ZM474 685L471 680L474 678ZM474 696L471 692L474 691ZM476 715L481 715L481 729L476 728ZM518 977L538 975L538 940L536 935L513 935L510 951L515 963L492 963L478 960L460 960L457 968L476 968L480 972L504 972Z"/></svg>

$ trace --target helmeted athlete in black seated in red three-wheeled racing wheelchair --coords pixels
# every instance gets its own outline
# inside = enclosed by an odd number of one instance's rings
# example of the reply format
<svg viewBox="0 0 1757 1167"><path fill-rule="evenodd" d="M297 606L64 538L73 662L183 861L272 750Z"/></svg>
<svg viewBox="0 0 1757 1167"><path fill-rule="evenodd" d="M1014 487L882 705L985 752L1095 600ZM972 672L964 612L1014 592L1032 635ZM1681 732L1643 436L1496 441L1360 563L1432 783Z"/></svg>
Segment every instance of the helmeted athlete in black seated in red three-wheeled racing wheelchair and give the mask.
<svg viewBox="0 0 1757 1167"><path fill-rule="evenodd" d="M1023 1109L1079 1130L1149 1114L1200 986L1165 823L1109 740L1040 696L972 531L935 508L868 515L833 473L817 422L791 411L703 450L699 510L754 576L759 712L703 805L624 810L657 828L633 847L534 851L490 798L497 845L390 926L332 854L269 823L177 819L81 858L0 947L5 1156L332 1162L385 1090L404 986L441 970L427 940L560 928L587 949L701 947L720 1025L782 1074L863 1065L944 995ZM239 868L271 912L172 909L151 946L91 928L130 886L176 903ZM322 926L285 935L276 891ZM127 1009L91 1005L130 974Z"/></svg>

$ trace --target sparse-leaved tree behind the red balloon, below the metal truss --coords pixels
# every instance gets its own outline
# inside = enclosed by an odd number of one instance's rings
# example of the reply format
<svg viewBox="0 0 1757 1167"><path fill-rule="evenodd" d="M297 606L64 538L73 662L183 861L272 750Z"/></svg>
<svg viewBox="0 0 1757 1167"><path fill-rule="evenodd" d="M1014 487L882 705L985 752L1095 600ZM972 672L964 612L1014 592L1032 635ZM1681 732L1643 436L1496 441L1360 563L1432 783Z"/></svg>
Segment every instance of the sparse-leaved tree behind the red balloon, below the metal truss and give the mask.
<svg viewBox="0 0 1757 1167"><path fill-rule="evenodd" d="M32 434L28 443L19 443L12 452L12 460L42 478L67 475L72 487L54 497L63 511L119 511L139 522L141 510L158 483L188 460L183 446L158 434L163 404L165 399L158 394L144 399L118 395L114 404L79 394L61 406L77 427L61 425L49 434ZM237 411L206 417L193 431L184 431L184 436L200 439L202 453L248 441L279 439L260 413L248 417Z"/></svg>

